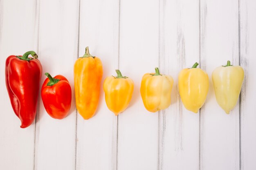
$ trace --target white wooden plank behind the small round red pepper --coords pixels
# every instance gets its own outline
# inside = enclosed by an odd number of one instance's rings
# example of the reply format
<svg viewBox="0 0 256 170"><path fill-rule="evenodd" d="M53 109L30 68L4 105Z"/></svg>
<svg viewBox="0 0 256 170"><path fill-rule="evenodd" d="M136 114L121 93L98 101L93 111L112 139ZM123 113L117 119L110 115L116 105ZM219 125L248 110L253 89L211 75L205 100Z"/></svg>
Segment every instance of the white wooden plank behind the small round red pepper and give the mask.
<svg viewBox="0 0 256 170"><path fill-rule="evenodd" d="M74 86L73 64L78 56L79 1L40 1L39 55L43 73L64 75ZM46 76L43 75L42 83ZM70 113L62 120L50 117L40 101L36 124L36 170L75 169L76 111L74 94Z"/></svg>

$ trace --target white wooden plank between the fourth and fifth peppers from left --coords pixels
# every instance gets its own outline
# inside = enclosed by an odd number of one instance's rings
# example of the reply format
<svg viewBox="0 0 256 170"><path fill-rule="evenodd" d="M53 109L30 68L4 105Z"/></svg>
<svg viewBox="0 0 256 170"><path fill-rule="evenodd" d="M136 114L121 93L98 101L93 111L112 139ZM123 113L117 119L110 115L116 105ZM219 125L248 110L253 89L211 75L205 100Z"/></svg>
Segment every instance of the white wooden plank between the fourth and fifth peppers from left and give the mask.
<svg viewBox="0 0 256 170"><path fill-rule="evenodd" d="M157 168L158 113L148 112L140 96L141 78L159 66L159 2L121 1L120 56L122 73L135 83L130 106L119 115L118 169Z"/></svg>

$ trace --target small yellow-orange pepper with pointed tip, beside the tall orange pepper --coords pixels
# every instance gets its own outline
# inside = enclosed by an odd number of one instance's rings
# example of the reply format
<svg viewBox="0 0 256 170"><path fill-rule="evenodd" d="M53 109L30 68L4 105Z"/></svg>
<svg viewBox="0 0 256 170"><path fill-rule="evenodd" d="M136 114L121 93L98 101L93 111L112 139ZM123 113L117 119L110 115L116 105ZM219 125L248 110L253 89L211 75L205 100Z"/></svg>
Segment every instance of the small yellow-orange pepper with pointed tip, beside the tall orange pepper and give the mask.
<svg viewBox="0 0 256 170"><path fill-rule="evenodd" d="M119 70L116 72L117 77L109 76L105 79L103 89L108 109L117 116L128 107L134 84L132 79L122 76Z"/></svg>

